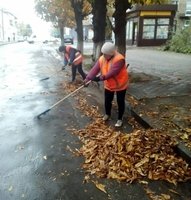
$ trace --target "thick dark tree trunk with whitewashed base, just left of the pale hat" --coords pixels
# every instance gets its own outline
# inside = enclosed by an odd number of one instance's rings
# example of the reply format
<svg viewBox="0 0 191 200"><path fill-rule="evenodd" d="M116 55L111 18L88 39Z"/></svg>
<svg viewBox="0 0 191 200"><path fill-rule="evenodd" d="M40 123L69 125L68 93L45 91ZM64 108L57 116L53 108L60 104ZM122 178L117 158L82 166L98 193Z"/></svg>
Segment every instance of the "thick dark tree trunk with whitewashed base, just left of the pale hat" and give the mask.
<svg viewBox="0 0 191 200"><path fill-rule="evenodd" d="M105 41L107 0L94 0L92 3L93 29L94 29L94 49L93 60L97 60L101 55L101 46Z"/></svg>

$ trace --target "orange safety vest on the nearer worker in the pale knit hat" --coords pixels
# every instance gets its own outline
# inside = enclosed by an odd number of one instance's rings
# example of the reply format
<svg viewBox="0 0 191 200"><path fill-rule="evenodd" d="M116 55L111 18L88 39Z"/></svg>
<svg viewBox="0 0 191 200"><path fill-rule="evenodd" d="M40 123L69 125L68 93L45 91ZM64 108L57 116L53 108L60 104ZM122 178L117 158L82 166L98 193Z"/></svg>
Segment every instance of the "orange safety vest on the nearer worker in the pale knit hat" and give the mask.
<svg viewBox="0 0 191 200"><path fill-rule="evenodd" d="M107 61L102 55L99 58L99 66L102 75L103 76L106 75L109 72L112 65L114 65L121 59L124 59L124 56L117 52L115 53L114 57L109 61ZM125 90L127 86L128 86L128 72L125 64L116 76L111 77L104 81L104 88L110 91Z"/></svg>

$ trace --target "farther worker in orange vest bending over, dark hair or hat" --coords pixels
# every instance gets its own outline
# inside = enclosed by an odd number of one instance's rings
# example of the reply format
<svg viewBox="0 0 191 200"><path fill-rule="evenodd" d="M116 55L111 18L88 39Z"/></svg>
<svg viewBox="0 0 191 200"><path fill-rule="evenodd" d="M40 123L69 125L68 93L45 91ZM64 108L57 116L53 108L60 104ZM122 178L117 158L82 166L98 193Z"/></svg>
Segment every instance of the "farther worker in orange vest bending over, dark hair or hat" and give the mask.
<svg viewBox="0 0 191 200"><path fill-rule="evenodd" d="M62 69L64 70L67 65L71 66L72 82L75 81L77 70L82 76L82 79L84 80L86 78L86 74L84 73L82 69L83 57L82 57L81 52L69 45L60 46L59 52L64 54L64 66L62 67Z"/></svg>

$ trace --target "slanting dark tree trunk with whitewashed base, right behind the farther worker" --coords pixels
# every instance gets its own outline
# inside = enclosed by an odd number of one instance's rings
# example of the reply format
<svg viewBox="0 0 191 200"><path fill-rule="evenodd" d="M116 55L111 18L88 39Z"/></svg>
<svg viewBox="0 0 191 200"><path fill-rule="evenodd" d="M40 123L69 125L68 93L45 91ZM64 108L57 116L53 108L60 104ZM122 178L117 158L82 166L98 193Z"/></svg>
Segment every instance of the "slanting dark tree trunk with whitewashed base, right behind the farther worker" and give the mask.
<svg viewBox="0 0 191 200"><path fill-rule="evenodd" d="M83 53L83 0L71 0L71 4L74 9L74 15L76 20L77 49L79 49Z"/></svg>

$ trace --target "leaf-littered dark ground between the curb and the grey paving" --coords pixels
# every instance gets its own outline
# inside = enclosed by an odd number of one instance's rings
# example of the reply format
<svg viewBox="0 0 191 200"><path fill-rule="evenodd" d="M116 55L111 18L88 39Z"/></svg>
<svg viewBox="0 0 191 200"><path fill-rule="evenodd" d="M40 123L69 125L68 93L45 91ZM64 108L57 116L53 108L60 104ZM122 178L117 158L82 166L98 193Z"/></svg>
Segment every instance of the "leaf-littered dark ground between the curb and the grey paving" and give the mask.
<svg viewBox="0 0 191 200"><path fill-rule="evenodd" d="M191 99L167 97L138 101L128 96L127 100L152 127L183 141L191 150Z"/></svg>

